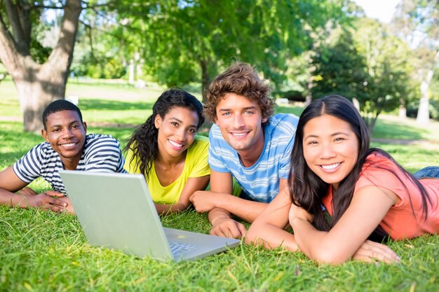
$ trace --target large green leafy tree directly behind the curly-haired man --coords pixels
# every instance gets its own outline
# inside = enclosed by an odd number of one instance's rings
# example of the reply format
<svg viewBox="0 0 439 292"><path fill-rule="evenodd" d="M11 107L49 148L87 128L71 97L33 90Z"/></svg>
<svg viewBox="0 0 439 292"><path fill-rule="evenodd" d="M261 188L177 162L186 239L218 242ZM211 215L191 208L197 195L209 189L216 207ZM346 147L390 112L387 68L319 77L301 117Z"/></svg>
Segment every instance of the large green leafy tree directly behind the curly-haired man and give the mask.
<svg viewBox="0 0 439 292"><path fill-rule="evenodd" d="M256 64L274 84L287 60L312 46L311 32L342 15L342 1L175 1L133 19L143 32L142 55L161 83L201 81L205 88L234 60ZM128 31L129 32L129 31Z"/></svg>

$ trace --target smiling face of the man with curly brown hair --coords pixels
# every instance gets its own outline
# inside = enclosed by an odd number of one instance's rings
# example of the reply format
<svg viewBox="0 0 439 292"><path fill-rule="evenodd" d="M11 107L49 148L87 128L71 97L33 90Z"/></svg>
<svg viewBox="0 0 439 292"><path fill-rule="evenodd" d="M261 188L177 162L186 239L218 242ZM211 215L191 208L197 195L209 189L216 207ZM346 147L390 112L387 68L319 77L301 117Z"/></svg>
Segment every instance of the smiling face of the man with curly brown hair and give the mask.
<svg viewBox="0 0 439 292"><path fill-rule="evenodd" d="M215 123L221 130L222 137L238 153L245 151L262 152L264 147L264 131L262 111L259 104L250 101L243 95L227 93L217 104ZM259 153L255 153L259 157ZM248 154L248 153L247 153Z"/></svg>

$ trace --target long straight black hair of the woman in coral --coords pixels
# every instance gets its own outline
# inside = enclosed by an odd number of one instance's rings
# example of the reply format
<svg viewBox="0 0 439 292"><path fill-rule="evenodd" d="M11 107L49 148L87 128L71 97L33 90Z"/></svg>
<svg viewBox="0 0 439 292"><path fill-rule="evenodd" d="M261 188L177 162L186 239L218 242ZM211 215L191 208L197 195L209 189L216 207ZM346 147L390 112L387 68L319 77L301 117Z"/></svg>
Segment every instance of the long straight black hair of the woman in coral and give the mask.
<svg viewBox="0 0 439 292"><path fill-rule="evenodd" d="M357 163L348 176L346 176L346 178L340 182L337 190L333 190L334 193L332 196L332 206L334 213L332 214L332 218L330 218L329 222L325 218L325 212L322 208L322 199L327 195L330 185L320 179L320 177L314 174L308 167L304 158L303 148L304 126L309 122L309 120L323 115L335 116L346 121L346 123L349 123L349 125L351 125L351 130L353 130L358 139ZM324 125L322 125L322 127L324 127ZM318 230L330 230L335 223L339 221L339 218L349 207L353 197L353 190L360 176L361 169L363 168L367 156L371 153L379 153L380 155L392 160L397 165L398 169L400 169L400 171L403 172L405 176L407 176L417 186L417 188L419 188L422 196L422 207L426 218L428 211L427 200L431 204L431 198L428 196L428 193L426 193L424 187L421 186L421 183L419 183L417 179L414 179L412 174L398 165L398 163L391 158L389 153L386 153L386 151L383 151L379 148L369 148L369 146L370 137L369 133L367 132L367 126L365 125L363 118L361 118L357 109L345 97L340 95L328 95L327 97L316 99L303 111L299 118L295 144L291 153L291 168L290 176L288 177L288 190L290 191L292 203L304 208L313 215L313 223L316 225ZM399 179L399 181L403 183L403 181L393 170L383 166L374 165L374 167L379 167L392 172ZM295 169L297 170L296 172ZM406 186L405 189L407 190ZM337 193L337 195L335 195L335 193ZM412 211L414 213L413 206Z"/></svg>

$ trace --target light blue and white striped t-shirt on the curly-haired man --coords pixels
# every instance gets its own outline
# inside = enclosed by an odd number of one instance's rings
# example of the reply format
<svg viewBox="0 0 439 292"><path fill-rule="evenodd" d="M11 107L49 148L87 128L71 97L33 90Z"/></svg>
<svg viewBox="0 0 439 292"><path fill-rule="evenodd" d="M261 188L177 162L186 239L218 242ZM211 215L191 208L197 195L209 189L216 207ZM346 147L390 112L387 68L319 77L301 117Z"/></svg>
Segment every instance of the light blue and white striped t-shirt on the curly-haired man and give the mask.
<svg viewBox="0 0 439 292"><path fill-rule="evenodd" d="M214 124L209 133L210 169L229 172L245 193L257 202L271 202L279 193L280 179L288 179L290 155L299 118L278 113L264 125L264 150L251 167L243 167L238 153Z"/></svg>

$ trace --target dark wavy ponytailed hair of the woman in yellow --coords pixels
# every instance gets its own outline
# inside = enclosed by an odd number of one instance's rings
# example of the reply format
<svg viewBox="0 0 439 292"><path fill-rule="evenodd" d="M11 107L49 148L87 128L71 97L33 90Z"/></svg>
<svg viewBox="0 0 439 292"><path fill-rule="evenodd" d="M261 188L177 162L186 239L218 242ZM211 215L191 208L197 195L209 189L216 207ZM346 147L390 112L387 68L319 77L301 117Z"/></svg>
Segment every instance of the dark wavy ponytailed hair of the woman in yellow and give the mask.
<svg viewBox="0 0 439 292"><path fill-rule="evenodd" d="M197 130L204 123L203 117L203 105L194 95L186 92L180 88L172 88L163 92L158 97L156 103L152 107L152 114L140 127L133 132L128 139L123 151L133 151L133 156L130 162L135 158L137 160L137 167L140 169L140 173L148 179L149 172L151 171L152 162L158 155L158 129L154 125L154 119L157 115L161 118L165 118L166 113L175 107L183 107L190 111L195 111L198 115Z"/></svg>

